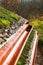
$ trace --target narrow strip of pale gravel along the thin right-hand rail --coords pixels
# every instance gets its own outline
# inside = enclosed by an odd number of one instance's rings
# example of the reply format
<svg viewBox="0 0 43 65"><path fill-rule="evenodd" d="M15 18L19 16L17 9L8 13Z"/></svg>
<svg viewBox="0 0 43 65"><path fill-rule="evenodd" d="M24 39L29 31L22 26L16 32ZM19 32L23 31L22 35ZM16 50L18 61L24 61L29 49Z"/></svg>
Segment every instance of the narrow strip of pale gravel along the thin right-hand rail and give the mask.
<svg viewBox="0 0 43 65"><path fill-rule="evenodd" d="M30 50L28 52L28 57L27 57L26 63L24 65L30 65L30 63L31 63L31 55L32 55L32 50L33 50L33 46L34 46L35 35L36 35L36 32L34 33L34 38L32 40L32 43L31 43L31 46L30 46Z"/></svg>

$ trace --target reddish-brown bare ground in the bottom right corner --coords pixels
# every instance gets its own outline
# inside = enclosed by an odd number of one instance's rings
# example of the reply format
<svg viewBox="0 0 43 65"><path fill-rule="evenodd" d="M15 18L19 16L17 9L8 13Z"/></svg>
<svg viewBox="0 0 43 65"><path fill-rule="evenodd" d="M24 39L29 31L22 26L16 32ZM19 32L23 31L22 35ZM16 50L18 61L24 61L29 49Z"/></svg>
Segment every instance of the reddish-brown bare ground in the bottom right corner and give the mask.
<svg viewBox="0 0 43 65"><path fill-rule="evenodd" d="M43 65L43 45L37 49L35 65Z"/></svg>

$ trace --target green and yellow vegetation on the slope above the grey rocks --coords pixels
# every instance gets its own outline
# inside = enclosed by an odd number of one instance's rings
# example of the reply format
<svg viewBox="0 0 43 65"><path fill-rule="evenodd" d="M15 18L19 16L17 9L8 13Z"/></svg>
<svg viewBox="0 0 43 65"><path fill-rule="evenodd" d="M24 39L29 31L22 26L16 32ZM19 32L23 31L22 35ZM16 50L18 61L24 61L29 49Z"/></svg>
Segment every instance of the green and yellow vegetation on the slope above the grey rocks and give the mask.
<svg viewBox="0 0 43 65"><path fill-rule="evenodd" d="M19 16L0 6L0 28L9 26L14 19L18 21Z"/></svg>

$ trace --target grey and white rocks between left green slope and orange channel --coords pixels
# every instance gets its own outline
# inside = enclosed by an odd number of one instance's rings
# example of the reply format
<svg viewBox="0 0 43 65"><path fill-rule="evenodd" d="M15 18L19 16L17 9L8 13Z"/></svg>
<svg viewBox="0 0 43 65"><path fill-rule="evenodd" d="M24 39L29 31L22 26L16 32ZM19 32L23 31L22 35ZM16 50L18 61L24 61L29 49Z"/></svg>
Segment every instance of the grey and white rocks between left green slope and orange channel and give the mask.
<svg viewBox="0 0 43 65"><path fill-rule="evenodd" d="M26 19L20 17L19 21L14 20L9 27L0 29L0 44L3 44L12 34L16 33L26 21Z"/></svg>

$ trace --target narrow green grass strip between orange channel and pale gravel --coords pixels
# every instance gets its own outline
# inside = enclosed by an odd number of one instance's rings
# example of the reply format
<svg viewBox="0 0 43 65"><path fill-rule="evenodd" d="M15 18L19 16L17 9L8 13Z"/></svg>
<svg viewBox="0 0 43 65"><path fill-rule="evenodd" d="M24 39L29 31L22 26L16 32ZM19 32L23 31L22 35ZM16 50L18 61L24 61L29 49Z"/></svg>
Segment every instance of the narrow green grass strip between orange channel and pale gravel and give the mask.
<svg viewBox="0 0 43 65"><path fill-rule="evenodd" d="M34 37L34 31L31 32L31 35L26 42L25 48L24 48L24 50L21 54L21 57L20 57L17 65L24 65L25 64L26 58L27 58L27 55L28 55L28 51L30 49L31 42L33 40L33 37Z"/></svg>

